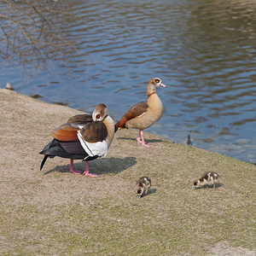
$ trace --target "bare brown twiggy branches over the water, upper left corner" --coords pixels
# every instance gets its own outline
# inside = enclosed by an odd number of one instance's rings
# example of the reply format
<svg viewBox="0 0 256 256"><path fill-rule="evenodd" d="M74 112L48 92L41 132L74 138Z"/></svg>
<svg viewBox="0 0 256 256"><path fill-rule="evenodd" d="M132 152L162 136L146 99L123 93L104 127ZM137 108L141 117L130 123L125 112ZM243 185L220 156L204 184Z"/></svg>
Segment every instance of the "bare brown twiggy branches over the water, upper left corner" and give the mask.
<svg viewBox="0 0 256 256"><path fill-rule="evenodd" d="M66 3L0 0L0 57L24 64L36 61L39 67L49 59L65 62L75 50L64 31L70 18Z"/></svg>

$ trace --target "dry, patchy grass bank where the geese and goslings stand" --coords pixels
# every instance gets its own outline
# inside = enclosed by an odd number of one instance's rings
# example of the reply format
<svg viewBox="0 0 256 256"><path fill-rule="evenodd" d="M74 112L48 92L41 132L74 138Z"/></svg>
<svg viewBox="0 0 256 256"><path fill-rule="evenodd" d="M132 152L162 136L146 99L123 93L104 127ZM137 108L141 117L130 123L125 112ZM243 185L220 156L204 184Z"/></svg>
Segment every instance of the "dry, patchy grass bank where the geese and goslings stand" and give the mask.
<svg viewBox="0 0 256 256"><path fill-rule="evenodd" d="M147 133L143 148L129 130L90 163L99 177L61 158L40 172L49 131L78 111L9 90L0 104L1 255L255 255L256 166ZM217 189L193 188L205 171L220 174ZM138 199L143 175L152 187Z"/></svg>

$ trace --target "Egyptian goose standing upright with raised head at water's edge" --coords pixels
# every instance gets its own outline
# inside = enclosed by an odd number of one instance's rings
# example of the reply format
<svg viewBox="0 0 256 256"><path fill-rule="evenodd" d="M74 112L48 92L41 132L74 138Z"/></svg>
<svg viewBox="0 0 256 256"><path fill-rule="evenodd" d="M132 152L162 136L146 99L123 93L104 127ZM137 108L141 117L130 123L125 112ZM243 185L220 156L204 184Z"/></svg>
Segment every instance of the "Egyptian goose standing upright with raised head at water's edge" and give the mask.
<svg viewBox="0 0 256 256"><path fill-rule="evenodd" d="M123 128L138 129L139 136L137 137L137 143L142 144L144 147L151 146L145 143L143 130L154 125L164 113L163 104L155 92L155 88L158 86L166 87L161 79L150 79L147 87L148 102L139 102L133 105L116 124L117 130Z"/></svg>

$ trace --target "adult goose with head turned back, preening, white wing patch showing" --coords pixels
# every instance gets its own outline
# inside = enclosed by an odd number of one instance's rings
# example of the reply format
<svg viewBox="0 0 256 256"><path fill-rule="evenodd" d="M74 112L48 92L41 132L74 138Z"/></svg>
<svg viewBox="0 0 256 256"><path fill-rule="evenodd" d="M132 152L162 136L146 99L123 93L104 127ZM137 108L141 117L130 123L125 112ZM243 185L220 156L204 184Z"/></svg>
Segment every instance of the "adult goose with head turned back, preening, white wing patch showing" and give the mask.
<svg viewBox="0 0 256 256"><path fill-rule="evenodd" d="M96 177L96 174L89 173L89 161L107 155L113 140L114 122L108 115L106 105L99 104L92 115L75 115L66 124L52 131L51 135L54 139L40 152L44 154L40 170L48 157L60 156L70 159L70 172ZM86 161L85 172L74 170L73 160Z"/></svg>

